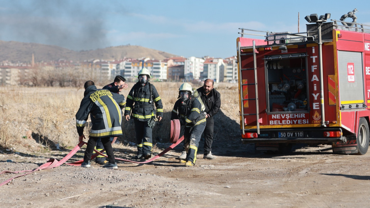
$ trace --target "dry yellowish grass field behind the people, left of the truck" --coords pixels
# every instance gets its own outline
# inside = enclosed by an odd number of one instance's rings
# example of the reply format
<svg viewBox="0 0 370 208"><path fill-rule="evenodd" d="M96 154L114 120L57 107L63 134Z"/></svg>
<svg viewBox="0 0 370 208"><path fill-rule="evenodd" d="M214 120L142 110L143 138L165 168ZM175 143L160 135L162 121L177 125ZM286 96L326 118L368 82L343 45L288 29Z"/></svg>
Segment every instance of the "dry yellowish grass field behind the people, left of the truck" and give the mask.
<svg viewBox="0 0 370 208"><path fill-rule="evenodd" d="M121 92L127 96L135 83ZM173 105L182 83L154 82L164 105L163 120L153 129L153 141L169 142L169 124ZM194 85L194 84L193 84ZM102 87L97 85L97 87ZM193 87L201 87L193 86ZM215 115L215 140L239 139L238 85L215 83L221 93L221 110ZM26 131L44 147L71 147L77 144L75 113L83 98L84 90L68 87L0 87L0 147L10 148L25 140ZM88 120L88 122L90 119ZM89 124L89 123L88 123ZM123 136L119 140L136 142L132 120L122 122ZM84 130L88 135L90 125Z"/></svg>

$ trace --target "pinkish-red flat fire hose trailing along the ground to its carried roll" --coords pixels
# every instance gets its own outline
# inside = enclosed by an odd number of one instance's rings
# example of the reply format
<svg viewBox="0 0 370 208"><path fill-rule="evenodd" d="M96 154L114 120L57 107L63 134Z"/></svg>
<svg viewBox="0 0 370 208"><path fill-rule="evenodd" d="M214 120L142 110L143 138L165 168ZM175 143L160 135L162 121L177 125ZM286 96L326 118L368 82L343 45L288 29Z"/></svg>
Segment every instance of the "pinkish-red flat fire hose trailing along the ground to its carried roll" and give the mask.
<svg viewBox="0 0 370 208"><path fill-rule="evenodd" d="M170 151L173 148L175 148L178 144L180 144L182 142L182 140L184 140L184 136L182 136L181 138L179 138L179 135L180 135L180 121L178 119L171 120L171 131L170 131L170 142L172 143L171 146L169 146L168 148L166 148L164 151L162 151L158 155L155 155L150 160L147 160L147 161L144 161L144 162L138 162L138 161L132 161L132 160L125 160L125 159L121 159L121 158L115 158L115 160L125 161L125 162L133 162L133 163L140 163L140 164L145 164L145 163L154 161L154 160L158 159L159 157L161 157L162 155L166 154L168 151ZM116 139L117 139L117 137L114 138L114 140L112 141L112 144L115 142ZM50 159L48 159L46 161L46 163L40 165L38 168L35 168L33 170L23 170L23 171L16 171L16 172L13 172L13 171L2 171L2 172L0 172L0 175L1 174L5 174L5 173L23 173L23 172L27 172L27 173L26 174L22 174L22 175L17 175L17 176L15 176L13 178L9 178L8 180L2 182L0 184L0 186L9 183L14 178L18 178L18 177L21 177L21 176L24 176L24 175L28 175L28 174L33 173L33 172L38 171L38 170L47 170L47 169L55 168L55 167L58 167L61 164L80 166L83 163L84 160L79 160L77 162L70 162L70 163L65 163L65 162L67 160L69 160L78 150L80 150L80 148L84 144L87 144L87 143L84 142L84 141L81 141L80 143L78 143L73 148L73 150L71 150L67 155L65 155L65 157L63 159L61 159L60 161L58 161L55 158L50 158ZM94 151L96 153L91 156L91 160L94 159L98 155L102 155L104 157L107 157L107 155L102 154L102 152L104 152L105 150L102 150L100 152L97 151L97 150L94 150Z"/></svg>

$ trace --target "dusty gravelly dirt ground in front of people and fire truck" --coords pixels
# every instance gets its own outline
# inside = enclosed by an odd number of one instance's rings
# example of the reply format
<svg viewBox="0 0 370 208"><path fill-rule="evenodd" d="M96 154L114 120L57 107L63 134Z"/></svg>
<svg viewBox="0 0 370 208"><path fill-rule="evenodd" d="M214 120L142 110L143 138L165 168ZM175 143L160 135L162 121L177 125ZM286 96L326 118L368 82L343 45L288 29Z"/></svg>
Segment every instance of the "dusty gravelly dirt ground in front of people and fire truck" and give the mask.
<svg viewBox="0 0 370 208"><path fill-rule="evenodd" d="M169 144L157 146L159 153ZM295 145L289 155L266 155L233 139L215 142L215 160L199 152L195 167L177 162L180 147L150 164L121 162L118 170L61 165L1 186L0 200L2 207L368 207L370 155L335 155L330 147ZM120 158L135 154L127 145L114 150ZM69 151L2 150L0 170L30 170ZM70 161L82 155L81 149Z"/></svg>

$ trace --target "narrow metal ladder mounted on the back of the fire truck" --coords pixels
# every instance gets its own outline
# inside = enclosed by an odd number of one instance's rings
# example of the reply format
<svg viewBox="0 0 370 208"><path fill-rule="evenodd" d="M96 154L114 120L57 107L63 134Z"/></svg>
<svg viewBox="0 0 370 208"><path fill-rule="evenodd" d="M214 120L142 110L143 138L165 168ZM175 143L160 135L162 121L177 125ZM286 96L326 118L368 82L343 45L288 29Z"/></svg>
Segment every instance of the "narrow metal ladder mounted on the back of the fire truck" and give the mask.
<svg viewBox="0 0 370 208"><path fill-rule="evenodd" d="M239 88L240 88L240 100L241 100L241 114L242 114L242 131L243 131L243 134L245 134L245 119L244 119L244 116L245 115L256 115L256 123L257 123L257 134L260 133L260 129L259 129L259 109L258 109L258 82L257 82L257 64L256 64L256 53L258 53L256 51L256 42L253 40L253 53L247 53L247 54L240 54L240 42L238 42L238 64L239 64L239 74L240 74L240 80L239 80ZM253 68L242 68L242 61L240 59L240 56L248 56L248 55L252 55L253 54ZM253 70L254 71L254 77L255 77L255 82L254 83L247 83L247 84L243 84L243 78L242 78L242 71L245 71L245 70ZM243 95L243 86L245 85L255 85L255 94L256 94L256 98L244 98L244 95ZM255 114L245 114L244 113L244 101L248 101L248 100L256 100L256 113Z"/></svg>

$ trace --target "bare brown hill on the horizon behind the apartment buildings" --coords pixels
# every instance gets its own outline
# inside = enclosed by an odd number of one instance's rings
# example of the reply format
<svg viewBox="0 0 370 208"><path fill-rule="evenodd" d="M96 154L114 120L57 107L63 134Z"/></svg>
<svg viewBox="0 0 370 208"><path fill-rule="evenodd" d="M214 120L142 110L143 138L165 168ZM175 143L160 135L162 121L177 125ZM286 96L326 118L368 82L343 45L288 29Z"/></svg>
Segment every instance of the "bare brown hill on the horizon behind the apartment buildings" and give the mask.
<svg viewBox="0 0 370 208"><path fill-rule="evenodd" d="M38 43L22 43L16 41L0 40L0 61L31 62L32 53L35 61L53 61L59 59L84 61L90 59L120 60L121 58L148 57L163 60L176 55L141 46L116 46L88 51L73 51L59 46Z"/></svg>

